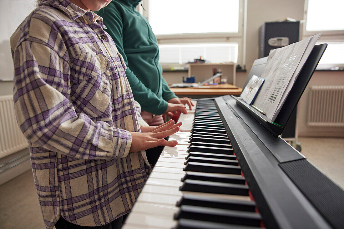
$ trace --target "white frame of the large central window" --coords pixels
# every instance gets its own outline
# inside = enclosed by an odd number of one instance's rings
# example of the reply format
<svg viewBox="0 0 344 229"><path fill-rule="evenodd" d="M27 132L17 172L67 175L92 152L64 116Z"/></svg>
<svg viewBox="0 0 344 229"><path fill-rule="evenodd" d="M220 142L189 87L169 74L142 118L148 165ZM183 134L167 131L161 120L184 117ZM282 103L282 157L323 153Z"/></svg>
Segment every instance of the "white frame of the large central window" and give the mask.
<svg viewBox="0 0 344 229"><path fill-rule="evenodd" d="M143 0L142 9L141 5L138 5L138 11L145 16L149 21L149 0ZM239 0L239 20L238 20L238 32L237 33L185 33L185 34L164 34L156 35L159 45L179 45L179 44L216 44L216 43L237 43L238 44L238 56L237 63L241 66L245 66L245 38L246 38L246 11L247 0ZM163 68L166 64L162 64ZM167 64L170 66L170 64Z"/></svg>

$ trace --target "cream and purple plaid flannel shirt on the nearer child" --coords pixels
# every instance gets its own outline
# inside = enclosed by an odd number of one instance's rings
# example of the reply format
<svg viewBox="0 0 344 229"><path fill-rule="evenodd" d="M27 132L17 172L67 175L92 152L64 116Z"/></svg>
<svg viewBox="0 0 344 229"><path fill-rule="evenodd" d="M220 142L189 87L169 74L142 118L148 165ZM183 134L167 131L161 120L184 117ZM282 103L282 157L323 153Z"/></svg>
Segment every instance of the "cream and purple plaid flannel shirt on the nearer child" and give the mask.
<svg viewBox="0 0 344 229"><path fill-rule="evenodd" d="M147 124L104 28L69 1L41 0L11 37L15 112L46 228L60 217L104 225L147 180L145 152L129 153L129 132Z"/></svg>

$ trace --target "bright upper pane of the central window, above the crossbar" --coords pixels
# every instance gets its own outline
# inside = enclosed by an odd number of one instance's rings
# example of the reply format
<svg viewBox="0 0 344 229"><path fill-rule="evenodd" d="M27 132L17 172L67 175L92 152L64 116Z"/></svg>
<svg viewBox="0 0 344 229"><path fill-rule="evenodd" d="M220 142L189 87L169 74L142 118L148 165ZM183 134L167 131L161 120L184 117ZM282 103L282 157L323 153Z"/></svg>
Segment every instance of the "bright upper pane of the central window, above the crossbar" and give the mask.
<svg viewBox="0 0 344 229"><path fill-rule="evenodd" d="M149 0L148 18L155 35L237 33L239 1Z"/></svg>

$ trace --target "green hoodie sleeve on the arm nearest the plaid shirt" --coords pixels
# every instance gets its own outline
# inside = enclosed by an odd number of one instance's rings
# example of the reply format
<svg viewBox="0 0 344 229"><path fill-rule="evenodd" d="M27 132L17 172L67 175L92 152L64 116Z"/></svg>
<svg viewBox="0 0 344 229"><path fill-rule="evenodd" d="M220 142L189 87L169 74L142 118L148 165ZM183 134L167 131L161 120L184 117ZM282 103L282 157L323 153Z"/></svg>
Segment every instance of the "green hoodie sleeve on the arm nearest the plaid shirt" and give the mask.
<svg viewBox="0 0 344 229"><path fill-rule="evenodd" d="M104 8L104 11L99 11L98 15L104 18L104 24L107 27L106 32L114 40L119 53L123 56L124 62L127 65L126 75L134 99L141 105L143 111L156 115L163 114L167 110L168 103L158 98L158 96L147 88L128 67L128 59L124 52L123 45L123 15L112 8Z"/></svg>

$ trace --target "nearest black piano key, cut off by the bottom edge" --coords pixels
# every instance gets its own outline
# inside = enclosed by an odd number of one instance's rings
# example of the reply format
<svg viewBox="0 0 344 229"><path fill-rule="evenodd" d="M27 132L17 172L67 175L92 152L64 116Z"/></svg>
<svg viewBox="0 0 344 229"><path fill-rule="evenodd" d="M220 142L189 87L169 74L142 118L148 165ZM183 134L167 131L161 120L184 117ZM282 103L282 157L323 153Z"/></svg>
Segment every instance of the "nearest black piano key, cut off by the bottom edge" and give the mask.
<svg viewBox="0 0 344 229"><path fill-rule="evenodd" d="M173 229L258 229L244 225L223 224L219 222L207 222L194 219L180 219Z"/></svg>

